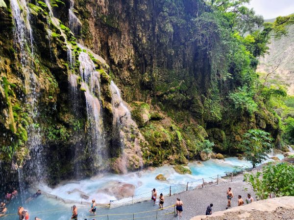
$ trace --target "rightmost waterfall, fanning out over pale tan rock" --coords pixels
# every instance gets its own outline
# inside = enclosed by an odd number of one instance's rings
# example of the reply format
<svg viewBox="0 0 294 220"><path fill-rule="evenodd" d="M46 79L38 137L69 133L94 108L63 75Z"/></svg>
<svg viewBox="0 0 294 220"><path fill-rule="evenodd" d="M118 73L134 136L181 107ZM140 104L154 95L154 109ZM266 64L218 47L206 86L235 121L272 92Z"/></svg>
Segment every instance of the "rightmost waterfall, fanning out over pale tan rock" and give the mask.
<svg viewBox="0 0 294 220"><path fill-rule="evenodd" d="M131 112L124 105L120 90L113 81L110 83L110 89L112 93L113 133L114 136L118 136L121 148L119 170L125 174L127 173L129 157L134 158L136 156L137 160L135 163L138 163L136 166L143 166L142 152L139 140L137 138L131 140L133 132L137 130L137 125L132 120ZM139 135L140 133L137 132L136 134ZM126 152L127 154L125 154Z"/></svg>

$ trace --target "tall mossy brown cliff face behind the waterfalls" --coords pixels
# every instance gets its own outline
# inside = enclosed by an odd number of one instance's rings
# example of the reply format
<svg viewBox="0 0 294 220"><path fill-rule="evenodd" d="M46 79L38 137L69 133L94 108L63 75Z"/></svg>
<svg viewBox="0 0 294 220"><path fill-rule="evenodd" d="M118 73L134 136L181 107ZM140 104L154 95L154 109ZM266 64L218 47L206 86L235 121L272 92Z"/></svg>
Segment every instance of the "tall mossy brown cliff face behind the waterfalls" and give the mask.
<svg viewBox="0 0 294 220"><path fill-rule="evenodd" d="M271 132L278 144L276 116L262 103L254 113L231 110L226 97L239 86L238 78L222 80L212 72L202 45L191 42L197 31L192 19L210 10L202 1L60 0L51 4L53 19L45 1L32 0L28 11L33 53L27 43L25 66L20 47L13 42L10 2L4 2L6 7L0 6L0 133L5 135L0 135L0 162L3 171L11 171L3 177L6 182L16 179L11 173L16 174L18 167L25 166L30 175L27 161L35 155L29 149L29 125L41 134L49 183L91 176L107 168L93 171L90 166L86 88L81 87L78 74L81 51L91 57L100 79L107 164L119 166L123 155L113 134L110 80L121 88L138 125L138 131L128 132L129 170L138 168L138 158L132 161L130 152L134 148L130 140L138 138L141 150L136 152L143 155L145 165L153 166L187 164L206 148L207 139L215 143L215 151L236 154L243 133L252 128ZM69 29L72 3L82 25L75 36ZM37 81L36 118L26 102L27 73ZM72 76L77 88L74 97Z"/></svg>

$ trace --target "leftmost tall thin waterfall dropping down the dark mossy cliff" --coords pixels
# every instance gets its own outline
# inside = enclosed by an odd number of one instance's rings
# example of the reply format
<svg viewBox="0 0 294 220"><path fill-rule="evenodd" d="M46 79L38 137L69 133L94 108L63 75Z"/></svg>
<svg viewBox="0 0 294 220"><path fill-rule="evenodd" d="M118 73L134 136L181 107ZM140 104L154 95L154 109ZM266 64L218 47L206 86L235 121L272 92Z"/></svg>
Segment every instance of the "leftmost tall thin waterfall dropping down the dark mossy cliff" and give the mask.
<svg viewBox="0 0 294 220"><path fill-rule="evenodd" d="M33 37L32 37L32 29L30 27L29 22L29 10L26 5L25 0L11 0L11 11L14 19L14 35L15 35L15 44L19 44L20 46L20 56L22 63L22 74L25 78L25 103L26 108L28 110L29 117L31 118L31 123L29 123L27 127L28 133L28 141L27 145L30 150L31 160L29 162L29 167L31 171L31 175L37 176L38 179L42 179L45 173L44 169L44 160L42 159L42 150L41 147L41 135L40 129L37 122L37 118L39 115L38 111L38 77L34 73L31 68L31 64L29 64L29 51L26 50L26 44L28 39L31 44L30 54L33 53ZM26 14L25 14L26 13ZM31 57L32 59L32 57ZM35 173L35 174L33 174ZM21 173L19 172L19 177L21 177ZM20 187L23 186L22 179L19 179ZM21 189L23 191L23 189Z"/></svg>

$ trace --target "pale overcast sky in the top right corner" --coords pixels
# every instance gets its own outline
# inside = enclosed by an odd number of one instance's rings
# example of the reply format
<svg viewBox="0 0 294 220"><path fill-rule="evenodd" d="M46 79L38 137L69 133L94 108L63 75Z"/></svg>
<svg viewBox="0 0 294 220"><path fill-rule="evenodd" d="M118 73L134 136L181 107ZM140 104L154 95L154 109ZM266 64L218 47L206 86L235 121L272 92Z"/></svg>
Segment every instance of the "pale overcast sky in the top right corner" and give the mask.
<svg viewBox="0 0 294 220"><path fill-rule="evenodd" d="M272 19L294 13L294 0L251 0L250 6L264 19Z"/></svg>

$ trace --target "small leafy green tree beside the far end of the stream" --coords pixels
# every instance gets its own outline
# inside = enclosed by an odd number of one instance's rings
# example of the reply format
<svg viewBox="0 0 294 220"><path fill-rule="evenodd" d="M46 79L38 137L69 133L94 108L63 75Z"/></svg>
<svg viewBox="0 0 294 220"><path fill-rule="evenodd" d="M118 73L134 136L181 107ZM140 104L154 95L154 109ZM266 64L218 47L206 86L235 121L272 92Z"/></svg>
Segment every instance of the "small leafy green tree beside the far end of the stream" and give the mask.
<svg viewBox="0 0 294 220"><path fill-rule="evenodd" d="M252 163L254 168L268 157L266 153L269 153L272 148L272 138L270 133L258 129L248 130L243 138L245 158Z"/></svg>

